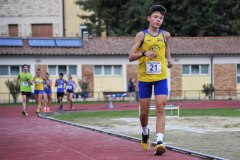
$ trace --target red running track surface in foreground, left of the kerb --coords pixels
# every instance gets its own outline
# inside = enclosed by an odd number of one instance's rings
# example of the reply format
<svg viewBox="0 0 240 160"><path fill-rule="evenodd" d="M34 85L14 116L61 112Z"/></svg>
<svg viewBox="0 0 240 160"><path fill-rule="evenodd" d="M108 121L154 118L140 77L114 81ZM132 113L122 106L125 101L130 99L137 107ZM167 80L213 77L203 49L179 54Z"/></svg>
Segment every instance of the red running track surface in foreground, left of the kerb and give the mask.
<svg viewBox="0 0 240 160"><path fill-rule="evenodd" d="M41 119L34 109L30 107L30 116L23 117L21 107L0 108L1 160L200 159L169 150L154 156L153 148L142 151L137 142Z"/></svg>

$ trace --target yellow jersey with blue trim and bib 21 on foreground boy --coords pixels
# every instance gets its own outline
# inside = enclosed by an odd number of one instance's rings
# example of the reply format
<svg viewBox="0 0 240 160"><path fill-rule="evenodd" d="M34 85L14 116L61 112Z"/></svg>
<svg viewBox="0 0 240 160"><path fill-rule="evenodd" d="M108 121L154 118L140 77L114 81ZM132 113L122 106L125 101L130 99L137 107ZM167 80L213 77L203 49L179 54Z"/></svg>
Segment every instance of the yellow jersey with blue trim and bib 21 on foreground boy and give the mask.
<svg viewBox="0 0 240 160"><path fill-rule="evenodd" d="M157 36L144 30L144 39L138 52L155 52L157 56L150 59L143 56L139 59L138 79L142 82L155 82L167 78L166 44L163 30L159 30Z"/></svg>

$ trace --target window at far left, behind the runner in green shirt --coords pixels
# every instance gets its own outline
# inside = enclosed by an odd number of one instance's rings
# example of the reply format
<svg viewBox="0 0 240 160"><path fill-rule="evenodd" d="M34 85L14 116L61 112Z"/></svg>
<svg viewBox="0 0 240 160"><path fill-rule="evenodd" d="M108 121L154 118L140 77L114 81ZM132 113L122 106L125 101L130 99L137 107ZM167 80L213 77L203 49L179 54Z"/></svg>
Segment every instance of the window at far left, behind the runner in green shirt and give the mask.
<svg viewBox="0 0 240 160"><path fill-rule="evenodd" d="M22 71L21 66L8 66L8 65L1 65L0 66L0 75L1 76L16 76Z"/></svg>

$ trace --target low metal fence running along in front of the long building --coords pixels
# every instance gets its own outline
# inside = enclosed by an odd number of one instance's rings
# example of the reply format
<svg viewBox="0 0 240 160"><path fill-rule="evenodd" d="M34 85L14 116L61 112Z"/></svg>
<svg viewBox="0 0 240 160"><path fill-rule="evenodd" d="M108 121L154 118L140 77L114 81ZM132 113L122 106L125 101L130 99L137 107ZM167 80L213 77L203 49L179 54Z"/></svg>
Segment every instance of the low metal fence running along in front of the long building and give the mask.
<svg viewBox="0 0 240 160"><path fill-rule="evenodd" d="M53 93L52 101L57 102L57 94ZM240 100L240 90L215 90L212 95L206 96L201 90L176 90L170 91L168 100ZM67 101L64 96L64 101ZM73 94L73 101L129 101L130 97L127 92L113 91L113 92L89 92ZM138 101L138 92L136 92L135 101ZM154 95L152 96L154 100ZM17 102L22 101L21 94L18 95ZM34 102L34 95L30 98L30 101ZM14 103L14 99L10 93L0 92L0 103Z"/></svg>

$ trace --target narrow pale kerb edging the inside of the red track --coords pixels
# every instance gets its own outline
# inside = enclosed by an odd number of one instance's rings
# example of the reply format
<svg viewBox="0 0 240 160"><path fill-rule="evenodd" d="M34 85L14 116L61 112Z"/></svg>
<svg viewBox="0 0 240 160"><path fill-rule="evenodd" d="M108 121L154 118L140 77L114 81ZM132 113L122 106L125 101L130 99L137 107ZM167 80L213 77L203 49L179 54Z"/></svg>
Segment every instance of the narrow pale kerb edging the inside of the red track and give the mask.
<svg viewBox="0 0 240 160"><path fill-rule="evenodd" d="M73 123L73 122L59 120L59 119L51 117L53 115L54 115L54 112L38 114L38 116L40 118L43 118L43 119L48 119L48 120L60 122L60 123L63 123L63 124L84 128L84 129L91 130L91 131L94 131L94 132L107 134L107 135L110 135L110 136L114 136L114 137L118 137L118 138L121 138L121 139L130 140L130 141L134 141L134 142L138 142L138 143L141 142L141 139L139 139L139 138L135 138L135 137L131 137L131 136L128 136L128 135L123 135L123 134L118 134L118 133L114 133L114 132L110 132L110 131L106 131L106 130L101 130L101 129L97 129L97 128L93 128L93 127L89 127L89 126L85 126L85 125L80 125L80 124ZM151 141L151 145L155 146L156 143ZM200 157L200 158L204 158L204 159L209 159L209 160L228 160L228 159L225 159L225 158L221 158L221 157L217 157L217 156L213 156L213 155L209 155L209 154L204 154L204 153L200 153L200 152L195 152L195 151L184 149L184 148L174 147L174 146L171 146L171 145L165 145L165 147L168 150L172 150L172 151L179 152L179 153L182 153L182 154L187 154L187 155Z"/></svg>

